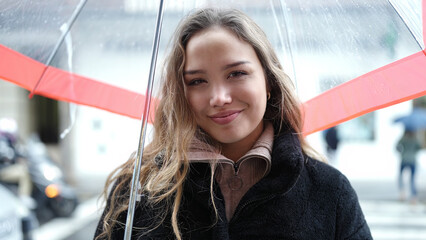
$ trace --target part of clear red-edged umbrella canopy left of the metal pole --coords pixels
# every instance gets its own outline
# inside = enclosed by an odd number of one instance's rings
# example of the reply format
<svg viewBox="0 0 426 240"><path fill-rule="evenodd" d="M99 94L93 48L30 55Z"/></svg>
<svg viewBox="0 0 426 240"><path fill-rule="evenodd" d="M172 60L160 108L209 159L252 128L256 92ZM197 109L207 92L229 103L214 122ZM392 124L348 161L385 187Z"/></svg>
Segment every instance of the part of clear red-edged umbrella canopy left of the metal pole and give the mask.
<svg viewBox="0 0 426 240"><path fill-rule="evenodd" d="M2 1L0 78L31 94L141 118L156 12L127 7Z"/></svg>

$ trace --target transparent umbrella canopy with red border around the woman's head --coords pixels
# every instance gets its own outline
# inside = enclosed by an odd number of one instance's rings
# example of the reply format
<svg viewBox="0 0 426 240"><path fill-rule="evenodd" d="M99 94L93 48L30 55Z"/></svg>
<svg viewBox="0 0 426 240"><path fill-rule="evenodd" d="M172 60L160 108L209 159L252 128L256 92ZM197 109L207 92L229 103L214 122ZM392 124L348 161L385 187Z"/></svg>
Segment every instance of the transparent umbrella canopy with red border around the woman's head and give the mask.
<svg viewBox="0 0 426 240"><path fill-rule="evenodd" d="M210 6L240 9L264 29L304 102L306 135L426 93L426 0L162 3L3 0L0 79L154 121L155 59L161 68L183 16Z"/></svg>

